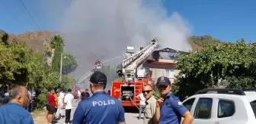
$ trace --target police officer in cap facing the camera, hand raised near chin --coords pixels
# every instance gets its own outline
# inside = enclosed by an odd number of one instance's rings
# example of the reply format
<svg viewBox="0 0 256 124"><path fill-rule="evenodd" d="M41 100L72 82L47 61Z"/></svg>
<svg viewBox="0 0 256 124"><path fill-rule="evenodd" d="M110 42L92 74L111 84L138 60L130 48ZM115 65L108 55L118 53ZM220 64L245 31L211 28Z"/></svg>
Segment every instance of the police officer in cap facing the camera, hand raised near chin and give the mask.
<svg viewBox="0 0 256 124"><path fill-rule="evenodd" d="M156 102L155 121L159 124L190 124L194 117L181 103L179 98L171 93L171 82L168 77L159 77L156 86L160 91L161 98Z"/></svg>

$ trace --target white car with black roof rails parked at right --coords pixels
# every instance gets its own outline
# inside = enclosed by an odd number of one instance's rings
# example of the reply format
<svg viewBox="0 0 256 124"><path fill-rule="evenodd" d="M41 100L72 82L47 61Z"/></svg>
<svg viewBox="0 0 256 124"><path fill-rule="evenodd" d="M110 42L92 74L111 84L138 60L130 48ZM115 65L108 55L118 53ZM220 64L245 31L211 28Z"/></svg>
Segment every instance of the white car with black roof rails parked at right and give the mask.
<svg viewBox="0 0 256 124"><path fill-rule="evenodd" d="M209 88L185 101L192 124L256 124L256 91Z"/></svg>

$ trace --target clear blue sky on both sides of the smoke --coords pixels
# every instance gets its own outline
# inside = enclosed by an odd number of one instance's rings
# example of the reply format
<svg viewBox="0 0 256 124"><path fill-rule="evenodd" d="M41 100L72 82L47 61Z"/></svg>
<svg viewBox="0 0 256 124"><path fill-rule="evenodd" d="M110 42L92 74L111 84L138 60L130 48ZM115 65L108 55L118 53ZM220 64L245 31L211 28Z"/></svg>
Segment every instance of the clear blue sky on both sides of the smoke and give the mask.
<svg viewBox="0 0 256 124"><path fill-rule="evenodd" d="M56 6L49 1L49 6ZM29 15L22 3L30 11L34 20L29 20ZM56 18L61 18L62 11L69 7L69 0L63 0L62 8L49 16L43 0L1 0L0 2L0 29L7 33L20 34L34 30L54 30L59 23ZM45 2L44 2L45 4ZM162 0L168 14L174 11L187 21L192 29L192 35L209 35L224 42L235 42L244 38L247 42L256 42L256 5L255 0ZM37 23L36 26L34 23Z"/></svg>

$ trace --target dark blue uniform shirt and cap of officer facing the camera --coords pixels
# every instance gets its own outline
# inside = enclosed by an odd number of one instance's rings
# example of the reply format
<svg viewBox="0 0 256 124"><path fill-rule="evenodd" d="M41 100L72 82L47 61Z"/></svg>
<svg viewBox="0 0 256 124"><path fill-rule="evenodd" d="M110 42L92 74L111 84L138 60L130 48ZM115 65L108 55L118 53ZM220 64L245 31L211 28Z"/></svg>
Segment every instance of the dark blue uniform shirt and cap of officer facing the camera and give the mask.
<svg viewBox="0 0 256 124"><path fill-rule="evenodd" d="M170 80L162 76L158 78L157 85L171 85ZM160 108L159 124L180 124L181 117L187 112L187 108L181 103L179 98L173 94L165 96Z"/></svg>

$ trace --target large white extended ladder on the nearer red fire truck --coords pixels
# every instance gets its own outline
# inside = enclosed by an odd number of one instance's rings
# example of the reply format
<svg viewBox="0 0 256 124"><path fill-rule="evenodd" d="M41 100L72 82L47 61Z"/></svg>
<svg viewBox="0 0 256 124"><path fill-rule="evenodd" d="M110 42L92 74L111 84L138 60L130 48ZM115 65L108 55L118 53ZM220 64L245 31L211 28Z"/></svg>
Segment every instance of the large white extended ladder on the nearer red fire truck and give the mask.
<svg viewBox="0 0 256 124"><path fill-rule="evenodd" d="M150 57L152 52L155 51L158 46L158 39L154 37L146 48L142 48L142 50L138 51L136 54L123 60L122 73L126 81L136 80L137 69L142 67L142 64Z"/></svg>

